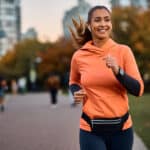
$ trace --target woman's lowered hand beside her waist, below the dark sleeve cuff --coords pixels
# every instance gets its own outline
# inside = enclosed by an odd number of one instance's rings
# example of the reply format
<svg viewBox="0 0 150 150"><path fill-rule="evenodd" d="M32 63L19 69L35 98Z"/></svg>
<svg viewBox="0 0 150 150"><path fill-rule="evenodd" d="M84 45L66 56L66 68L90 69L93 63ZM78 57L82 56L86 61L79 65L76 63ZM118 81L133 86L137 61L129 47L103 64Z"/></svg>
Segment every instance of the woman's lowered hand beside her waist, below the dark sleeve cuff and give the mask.
<svg viewBox="0 0 150 150"><path fill-rule="evenodd" d="M81 89L77 92L74 92L73 98L74 98L74 102L76 104L79 104L83 102L83 100L86 98L86 93L83 89Z"/></svg>

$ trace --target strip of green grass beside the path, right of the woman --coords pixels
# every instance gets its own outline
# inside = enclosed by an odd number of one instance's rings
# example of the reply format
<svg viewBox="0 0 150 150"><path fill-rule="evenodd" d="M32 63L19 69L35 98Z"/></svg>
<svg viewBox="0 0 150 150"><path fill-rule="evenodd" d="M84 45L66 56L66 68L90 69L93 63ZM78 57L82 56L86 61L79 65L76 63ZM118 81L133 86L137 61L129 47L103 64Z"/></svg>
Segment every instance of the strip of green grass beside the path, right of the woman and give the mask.
<svg viewBox="0 0 150 150"><path fill-rule="evenodd" d="M138 98L129 95L129 103L134 130L150 149L150 94Z"/></svg>

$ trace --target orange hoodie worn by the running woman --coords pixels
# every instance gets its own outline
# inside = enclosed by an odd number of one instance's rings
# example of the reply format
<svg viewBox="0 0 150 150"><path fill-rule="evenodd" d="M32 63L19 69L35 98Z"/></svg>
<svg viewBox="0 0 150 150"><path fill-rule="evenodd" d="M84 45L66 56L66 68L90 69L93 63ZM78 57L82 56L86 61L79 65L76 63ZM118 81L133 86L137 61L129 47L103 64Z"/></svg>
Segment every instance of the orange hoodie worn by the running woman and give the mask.
<svg viewBox="0 0 150 150"><path fill-rule="evenodd" d="M87 42L72 57L69 84L78 84L86 91L87 99L83 102L82 111L90 118L120 117L129 110L126 89L103 59L108 54L116 58L118 65L128 75L139 81L141 86L139 96L144 90L135 58L128 46L118 44L112 39L101 48L92 45L92 41ZM123 129L131 126L130 116ZM82 118L80 128L90 131L90 126Z"/></svg>

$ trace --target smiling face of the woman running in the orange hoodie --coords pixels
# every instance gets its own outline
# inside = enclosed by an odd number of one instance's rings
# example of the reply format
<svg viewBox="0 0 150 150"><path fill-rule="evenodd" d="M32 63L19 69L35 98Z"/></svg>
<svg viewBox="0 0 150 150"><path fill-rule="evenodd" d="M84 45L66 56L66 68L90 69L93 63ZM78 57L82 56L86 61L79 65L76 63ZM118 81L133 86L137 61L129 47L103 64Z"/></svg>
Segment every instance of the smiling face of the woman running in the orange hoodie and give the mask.
<svg viewBox="0 0 150 150"><path fill-rule="evenodd" d="M89 28L93 39L108 39L112 30L111 16L105 9L96 9L92 13Z"/></svg>

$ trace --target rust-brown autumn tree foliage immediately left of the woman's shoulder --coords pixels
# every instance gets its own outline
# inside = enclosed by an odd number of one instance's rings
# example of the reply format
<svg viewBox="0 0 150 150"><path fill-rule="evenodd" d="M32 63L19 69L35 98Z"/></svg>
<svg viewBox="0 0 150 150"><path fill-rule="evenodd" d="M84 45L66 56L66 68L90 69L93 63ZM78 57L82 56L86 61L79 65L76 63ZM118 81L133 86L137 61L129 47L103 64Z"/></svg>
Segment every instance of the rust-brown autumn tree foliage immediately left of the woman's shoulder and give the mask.
<svg viewBox="0 0 150 150"><path fill-rule="evenodd" d="M38 67L39 76L43 78L50 72L61 75L68 72L73 51L71 41L64 38L60 38L47 50L41 51L39 56L42 58L42 63Z"/></svg>

